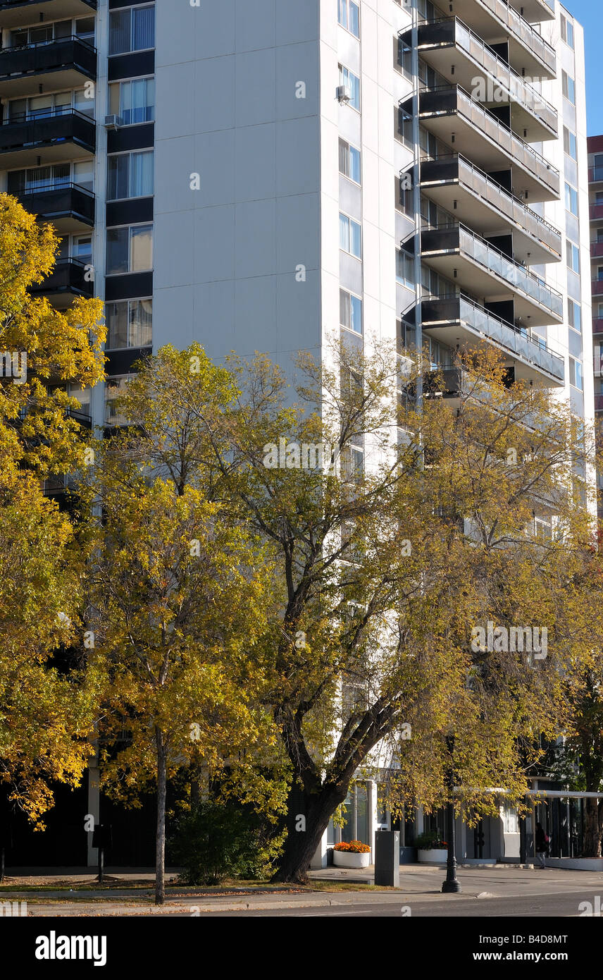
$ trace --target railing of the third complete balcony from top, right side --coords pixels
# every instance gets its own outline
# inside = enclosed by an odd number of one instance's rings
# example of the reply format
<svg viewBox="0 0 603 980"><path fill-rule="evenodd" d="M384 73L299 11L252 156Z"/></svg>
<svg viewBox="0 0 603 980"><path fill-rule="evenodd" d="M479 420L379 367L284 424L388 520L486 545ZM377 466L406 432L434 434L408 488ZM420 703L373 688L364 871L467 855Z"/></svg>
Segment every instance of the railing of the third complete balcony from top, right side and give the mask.
<svg viewBox="0 0 603 980"><path fill-rule="evenodd" d="M462 154L450 154L422 162L421 186L426 183L444 183L446 180L458 181L556 256L561 256L561 231L536 215L521 198L516 197Z"/></svg>

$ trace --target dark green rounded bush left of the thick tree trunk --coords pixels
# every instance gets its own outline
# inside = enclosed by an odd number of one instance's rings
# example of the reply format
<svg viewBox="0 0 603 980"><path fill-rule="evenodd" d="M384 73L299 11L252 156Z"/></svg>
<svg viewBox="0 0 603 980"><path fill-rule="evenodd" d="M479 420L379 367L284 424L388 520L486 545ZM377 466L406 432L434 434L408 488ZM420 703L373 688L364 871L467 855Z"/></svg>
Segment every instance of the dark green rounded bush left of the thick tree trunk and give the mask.
<svg viewBox="0 0 603 980"><path fill-rule="evenodd" d="M219 885L226 878L267 877L282 838L253 809L207 800L176 820L169 843L188 885Z"/></svg>

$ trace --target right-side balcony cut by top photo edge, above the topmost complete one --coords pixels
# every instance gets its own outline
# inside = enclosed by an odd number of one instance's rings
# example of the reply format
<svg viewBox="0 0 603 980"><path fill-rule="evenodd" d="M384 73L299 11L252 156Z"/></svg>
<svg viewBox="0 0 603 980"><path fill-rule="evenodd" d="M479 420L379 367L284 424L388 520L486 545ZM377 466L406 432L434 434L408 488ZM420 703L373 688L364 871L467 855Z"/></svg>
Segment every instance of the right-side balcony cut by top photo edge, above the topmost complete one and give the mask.
<svg viewBox="0 0 603 980"><path fill-rule="evenodd" d="M509 45L509 63L516 72L533 78L554 78L557 73L555 49L522 17L507 0L451 0L449 13L460 17L487 43L503 38ZM549 8L550 13L550 8Z"/></svg>

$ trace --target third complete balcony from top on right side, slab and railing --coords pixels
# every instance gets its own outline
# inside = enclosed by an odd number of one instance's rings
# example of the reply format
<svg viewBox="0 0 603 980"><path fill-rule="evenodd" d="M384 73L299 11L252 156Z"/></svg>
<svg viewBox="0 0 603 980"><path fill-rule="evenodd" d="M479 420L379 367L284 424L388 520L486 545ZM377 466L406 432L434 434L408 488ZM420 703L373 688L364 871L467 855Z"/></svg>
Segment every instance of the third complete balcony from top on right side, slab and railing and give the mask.
<svg viewBox="0 0 603 980"><path fill-rule="evenodd" d="M484 237L512 231L520 262L531 266L561 260L561 232L460 154L422 161L421 190Z"/></svg>

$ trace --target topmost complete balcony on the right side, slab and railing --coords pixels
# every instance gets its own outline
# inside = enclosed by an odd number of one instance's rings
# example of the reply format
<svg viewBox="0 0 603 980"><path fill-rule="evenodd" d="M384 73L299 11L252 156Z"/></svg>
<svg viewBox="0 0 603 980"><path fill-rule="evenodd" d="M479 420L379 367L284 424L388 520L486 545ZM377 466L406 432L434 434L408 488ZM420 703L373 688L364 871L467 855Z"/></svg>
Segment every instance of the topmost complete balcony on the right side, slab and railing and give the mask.
<svg viewBox="0 0 603 980"><path fill-rule="evenodd" d="M404 36L410 42L410 32ZM509 105L511 128L527 142L557 138L554 106L458 18L420 24L418 47L423 61L451 84L474 92L479 77L483 90L474 97L488 108Z"/></svg>

